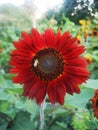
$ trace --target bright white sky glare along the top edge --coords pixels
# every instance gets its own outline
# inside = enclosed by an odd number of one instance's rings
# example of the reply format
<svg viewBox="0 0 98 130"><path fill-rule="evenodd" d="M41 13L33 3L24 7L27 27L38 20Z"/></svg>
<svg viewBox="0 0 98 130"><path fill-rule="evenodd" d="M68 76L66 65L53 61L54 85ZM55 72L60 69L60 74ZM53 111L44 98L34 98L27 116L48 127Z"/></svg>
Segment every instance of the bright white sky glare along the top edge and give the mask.
<svg viewBox="0 0 98 130"><path fill-rule="evenodd" d="M0 0L0 5L11 3L16 6L21 6L24 4L24 1L25 0ZM35 6L36 18L40 18L48 9L51 9L55 6L59 8L63 3L63 0L31 0L31 1L34 3Z"/></svg>

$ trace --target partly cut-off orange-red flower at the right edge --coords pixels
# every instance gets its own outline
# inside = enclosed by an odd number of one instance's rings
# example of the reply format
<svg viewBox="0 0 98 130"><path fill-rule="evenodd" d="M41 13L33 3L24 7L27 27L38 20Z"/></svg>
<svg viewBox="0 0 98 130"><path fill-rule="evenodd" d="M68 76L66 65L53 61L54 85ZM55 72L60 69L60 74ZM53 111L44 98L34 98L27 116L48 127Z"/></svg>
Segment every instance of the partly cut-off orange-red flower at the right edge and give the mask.
<svg viewBox="0 0 98 130"><path fill-rule="evenodd" d="M94 116L98 118L98 90L95 90L95 94L91 100L92 100L92 108L94 111Z"/></svg>

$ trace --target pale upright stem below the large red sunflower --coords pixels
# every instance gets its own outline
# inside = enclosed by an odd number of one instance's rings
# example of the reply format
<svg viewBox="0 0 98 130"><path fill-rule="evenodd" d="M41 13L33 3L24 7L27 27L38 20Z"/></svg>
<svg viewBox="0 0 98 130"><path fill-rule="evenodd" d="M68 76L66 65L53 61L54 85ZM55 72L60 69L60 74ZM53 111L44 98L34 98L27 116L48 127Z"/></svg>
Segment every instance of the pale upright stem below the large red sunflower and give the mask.
<svg viewBox="0 0 98 130"><path fill-rule="evenodd" d="M40 126L39 130L44 130L44 101L40 106Z"/></svg>

